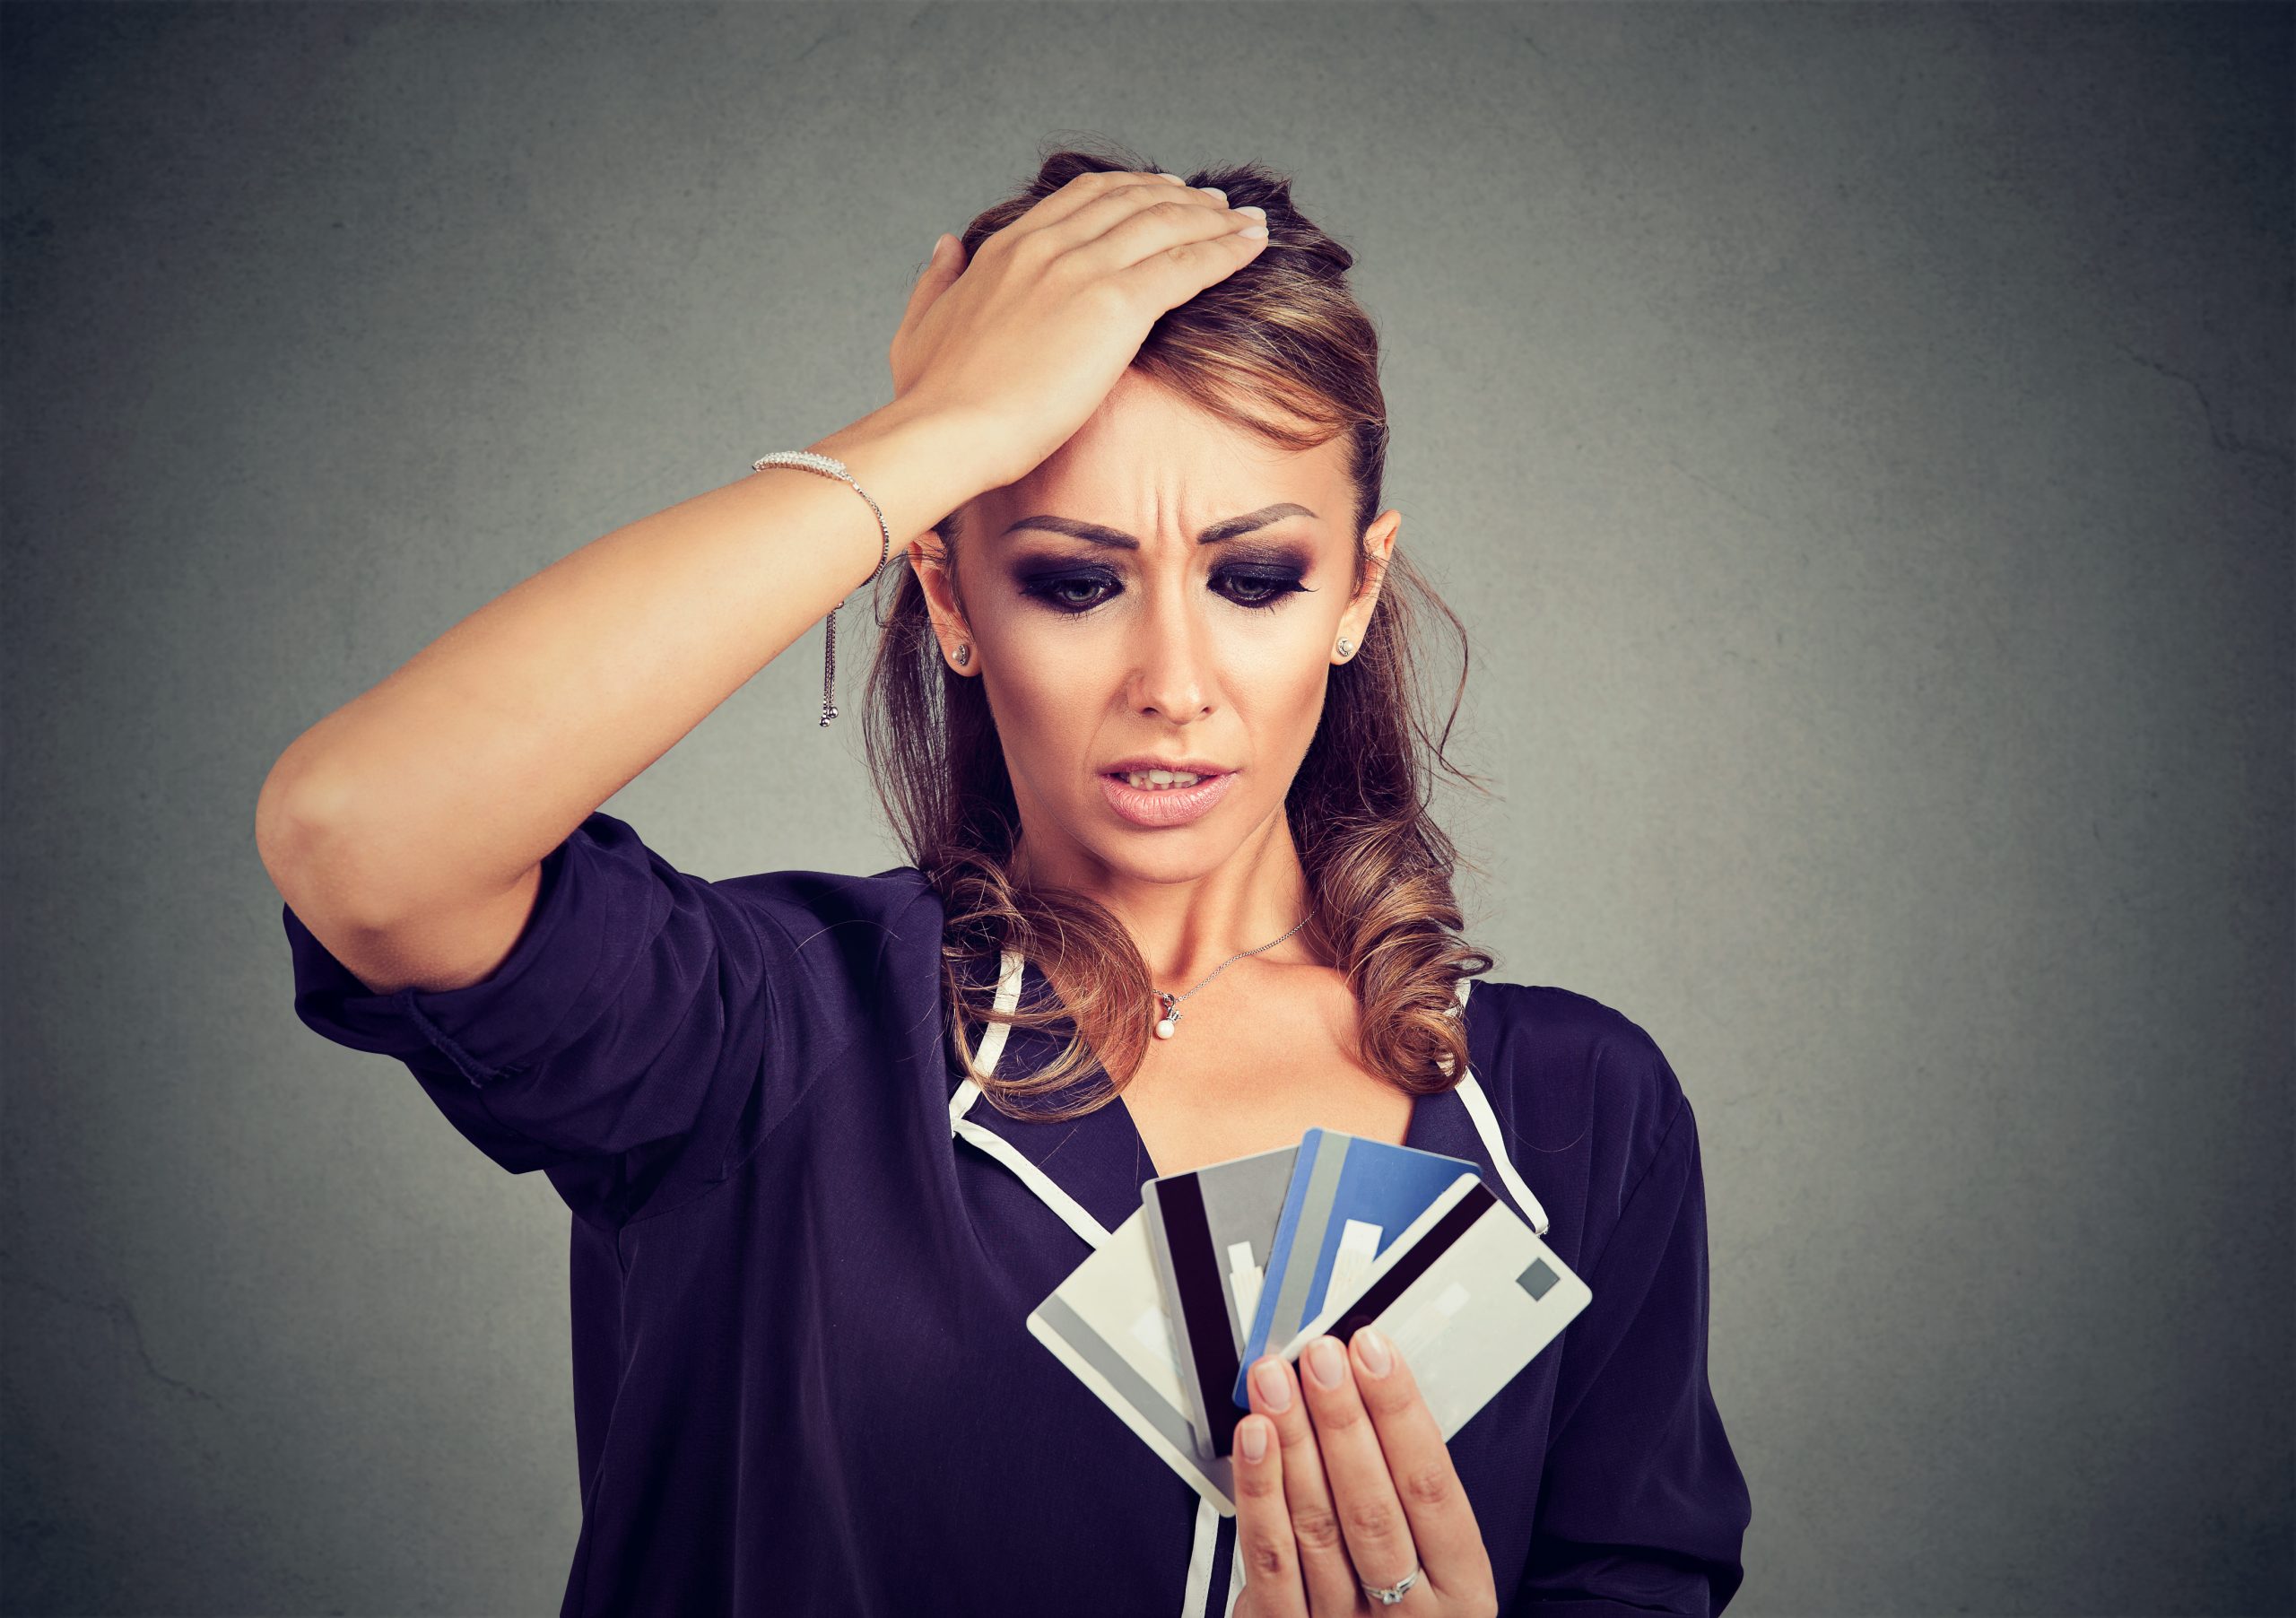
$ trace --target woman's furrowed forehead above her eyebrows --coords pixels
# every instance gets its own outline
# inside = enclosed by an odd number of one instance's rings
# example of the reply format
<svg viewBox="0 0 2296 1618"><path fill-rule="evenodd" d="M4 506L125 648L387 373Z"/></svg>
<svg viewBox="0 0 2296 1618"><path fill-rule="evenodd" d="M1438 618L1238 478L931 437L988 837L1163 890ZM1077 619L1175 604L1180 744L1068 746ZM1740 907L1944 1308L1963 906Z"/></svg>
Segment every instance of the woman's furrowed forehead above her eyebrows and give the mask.
<svg viewBox="0 0 2296 1618"><path fill-rule="evenodd" d="M1355 505L1345 436L1286 450L1141 372L1125 372L1068 443L1019 482L980 496L978 509L990 537L1017 516L1049 512L1155 544L1279 500L1343 528Z"/></svg>

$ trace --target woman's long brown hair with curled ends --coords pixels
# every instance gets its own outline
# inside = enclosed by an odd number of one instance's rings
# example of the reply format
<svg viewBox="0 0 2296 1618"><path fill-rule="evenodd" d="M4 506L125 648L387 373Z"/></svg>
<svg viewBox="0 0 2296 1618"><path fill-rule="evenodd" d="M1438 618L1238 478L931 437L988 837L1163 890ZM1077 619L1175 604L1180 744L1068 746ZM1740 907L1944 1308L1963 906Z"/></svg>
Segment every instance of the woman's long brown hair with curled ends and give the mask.
<svg viewBox="0 0 2296 1618"><path fill-rule="evenodd" d="M967 225L967 262L983 239L1079 172L1157 168L1116 145L1063 145L1019 193ZM1258 163L1185 179L1219 186L1231 207L1267 209L1267 246L1166 310L1132 370L1286 450L1345 434L1359 590L1371 560L1362 537L1380 512L1387 402L1378 333L1345 285L1355 255L1293 207L1288 177ZM960 516L937 526L951 562ZM1033 1074L987 1074L980 1088L992 1106L1019 1118L1088 1113L1114 1099L1146 1056L1155 1003L1148 966L1107 907L1026 886L1010 870L1019 810L987 695L978 679L941 661L916 571L886 571L898 578L895 601L891 615L879 613L884 633L868 677L863 744L902 847L941 895L953 1047L978 1072L971 1024L1065 1028L1065 1047ZM1421 624L1437 615L1451 624L1460 652L1440 732L1424 711L1417 668ZM1297 936L1345 973L1359 1008L1364 1067L1414 1095L1446 1090L1465 1072L1467 1033L1451 1014L1458 980L1495 964L1458 936L1451 872L1460 858L1428 812L1437 769L1481 789L1481 778L1444 757L1465 684L1467 636L1458 615L1401 549L1391 551L1364 647L1332 668L1322 721L1283 803L1309 886L1309 920ZM1010 1017L990 1005L1006 948L1033 962L1049 989ZM1042 1104L1093 1074L1104 1083Z"/></svg>

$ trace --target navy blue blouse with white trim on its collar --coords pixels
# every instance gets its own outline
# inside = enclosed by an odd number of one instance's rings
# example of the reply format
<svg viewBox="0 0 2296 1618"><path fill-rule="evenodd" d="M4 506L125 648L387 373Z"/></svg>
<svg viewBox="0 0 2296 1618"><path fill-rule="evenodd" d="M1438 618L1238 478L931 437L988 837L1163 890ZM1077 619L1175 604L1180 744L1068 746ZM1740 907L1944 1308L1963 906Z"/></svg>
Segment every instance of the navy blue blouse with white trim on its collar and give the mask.
<svg viewBox="0 0 2296 1618"><path fill-rule="evenodd" d="M914 865L705 881L597 812L510 957L445 991L372 994L282 920L296 1014L574 1212L563 1618L1228 1613L1235 1519L1024 1324L1155 1168L1120 1099L1031 1122L967 1083ZM1460 1012L1469 1074L1405 1141L1479 1164L1593 1288L1451 1439L1502 1611L1720 1613L1750 1501L1690 1102L1582 994L1486 980Z"/></svg>

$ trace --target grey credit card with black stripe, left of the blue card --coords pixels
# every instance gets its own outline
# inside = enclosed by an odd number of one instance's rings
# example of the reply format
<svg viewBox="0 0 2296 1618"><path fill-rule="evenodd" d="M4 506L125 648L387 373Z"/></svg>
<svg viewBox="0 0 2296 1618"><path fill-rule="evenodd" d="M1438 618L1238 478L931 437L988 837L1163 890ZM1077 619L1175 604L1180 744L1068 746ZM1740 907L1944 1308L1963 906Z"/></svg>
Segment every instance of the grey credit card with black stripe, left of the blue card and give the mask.
<svg viewBox="0 0 2296 1618"><path fill-rule="evenodd" d="M1141 1187L1148 1242L1176 1324L1187 1421L1203 1460L1228 1455L1235 1372L1300 1148L1233 1157Z"/></svg>

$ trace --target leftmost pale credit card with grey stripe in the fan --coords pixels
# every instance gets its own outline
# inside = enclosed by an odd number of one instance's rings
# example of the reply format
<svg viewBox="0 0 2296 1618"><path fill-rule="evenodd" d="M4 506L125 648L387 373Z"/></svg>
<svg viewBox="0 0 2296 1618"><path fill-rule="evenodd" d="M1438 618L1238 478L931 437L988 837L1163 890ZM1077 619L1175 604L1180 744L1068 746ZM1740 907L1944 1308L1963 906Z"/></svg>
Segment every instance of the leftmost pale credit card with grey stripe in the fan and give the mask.
<svg viewBox="0 0 2296 1618"><path fill-rule="evenodd" d="M1029 1313L1029 1336L1052 1349L1221 1517L1235 1515L1231 1462L1196 1453L1171 1315L1155 1278L1146 1203Z"/></svg>

